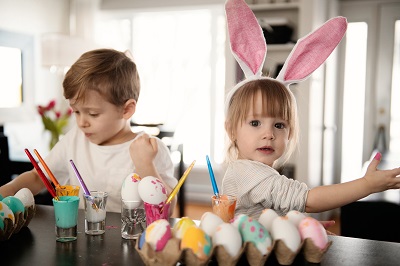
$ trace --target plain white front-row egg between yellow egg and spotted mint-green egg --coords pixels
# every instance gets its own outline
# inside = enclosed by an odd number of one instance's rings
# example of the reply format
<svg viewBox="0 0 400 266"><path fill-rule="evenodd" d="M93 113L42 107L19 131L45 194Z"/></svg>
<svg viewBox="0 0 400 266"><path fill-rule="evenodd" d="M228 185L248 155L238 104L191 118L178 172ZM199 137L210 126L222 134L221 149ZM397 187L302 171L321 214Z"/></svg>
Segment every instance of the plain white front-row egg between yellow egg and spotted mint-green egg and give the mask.
<svg viewBox="0 0 400 266"><path fill-rule="evenodd" d="M242 247L242 237L239 230L229 223L218 225L211 239L214 246L223 246L232 257L238 255Z"/></svg>

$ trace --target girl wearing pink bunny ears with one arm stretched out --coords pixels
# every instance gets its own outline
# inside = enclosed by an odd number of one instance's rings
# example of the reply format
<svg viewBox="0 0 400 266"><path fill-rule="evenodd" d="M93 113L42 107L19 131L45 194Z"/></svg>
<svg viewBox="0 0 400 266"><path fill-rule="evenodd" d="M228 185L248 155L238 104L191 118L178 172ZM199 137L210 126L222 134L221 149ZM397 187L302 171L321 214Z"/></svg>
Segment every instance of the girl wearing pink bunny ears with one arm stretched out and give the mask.
<svg viewBox="0 0 400 266"><path fill-rule="evenodd" d="M266 45L251 10L242 0L228 0L226 8L231 48L246 75L226 99L230 144L222 193L237 196L236 214L258 219L266 208L279 215L290 210L322 212L400 188L400 168L377 170L380 153L364 177L342 184L308 188L275 170L297 143L297 105L288 85L304 80L326 60L346 31L346 19L332 19L299 40L275 80L261 74ZM246 34L242 34L242 21L251 27ZM260 54L264 54L262 60Z"/></svg>

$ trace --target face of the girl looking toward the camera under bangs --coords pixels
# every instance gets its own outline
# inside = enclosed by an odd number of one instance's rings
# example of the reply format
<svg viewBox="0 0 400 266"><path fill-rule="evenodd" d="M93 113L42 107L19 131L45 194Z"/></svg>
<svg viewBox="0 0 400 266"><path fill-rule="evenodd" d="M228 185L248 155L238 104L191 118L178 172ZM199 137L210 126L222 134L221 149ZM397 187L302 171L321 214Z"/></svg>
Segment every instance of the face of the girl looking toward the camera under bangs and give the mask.
<svg viewBox="0 0 400 266"><path fill-rule="evenodd" d="M262 162L272 167L286 150L290 128L287 121L277 117L262 116L261 93L255 96L254 106L236 130L239 159Z"/></svg>

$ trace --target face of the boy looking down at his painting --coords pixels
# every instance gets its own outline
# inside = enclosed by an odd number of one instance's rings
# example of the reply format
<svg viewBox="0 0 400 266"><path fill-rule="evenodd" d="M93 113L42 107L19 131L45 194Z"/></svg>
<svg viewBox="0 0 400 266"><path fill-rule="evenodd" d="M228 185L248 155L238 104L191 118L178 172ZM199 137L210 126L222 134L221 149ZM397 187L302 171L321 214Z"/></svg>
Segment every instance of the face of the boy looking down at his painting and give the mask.
<svg viewBox="0 0 400 266"><path fill-rule="evenodd" d="M85 101L70 100L76 123L86 138L97 145L120 144L131 133L124 108L117 107L96 91L88 91Z"/></svg>

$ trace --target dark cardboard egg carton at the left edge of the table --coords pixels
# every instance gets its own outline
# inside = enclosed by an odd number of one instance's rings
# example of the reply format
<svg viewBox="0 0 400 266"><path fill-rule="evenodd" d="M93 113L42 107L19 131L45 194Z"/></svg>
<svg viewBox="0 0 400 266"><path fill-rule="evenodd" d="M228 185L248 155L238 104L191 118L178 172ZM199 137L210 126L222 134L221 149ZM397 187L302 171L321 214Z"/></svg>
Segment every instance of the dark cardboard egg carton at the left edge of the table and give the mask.
<svg viewBox="0 0 400 266"><path fill-rule="evenodd" d="M15 223L10 218L4 219L4 229L0 229L0 241L8 240L12 234L18 233L22 227L28 226L36 213L36 206L25 207L25 212L14 214Z"/></svg>

